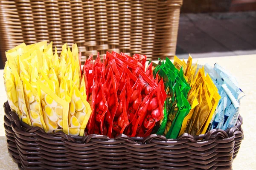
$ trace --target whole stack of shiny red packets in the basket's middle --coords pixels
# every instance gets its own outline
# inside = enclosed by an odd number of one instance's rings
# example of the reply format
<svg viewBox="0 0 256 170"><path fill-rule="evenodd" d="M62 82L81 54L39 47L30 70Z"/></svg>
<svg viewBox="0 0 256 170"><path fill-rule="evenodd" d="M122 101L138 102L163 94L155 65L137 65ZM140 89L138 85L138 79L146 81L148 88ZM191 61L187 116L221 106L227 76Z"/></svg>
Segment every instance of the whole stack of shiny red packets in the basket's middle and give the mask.
<svg viewBox="0 0 256 170"><path fill-rule="evenodd" d="M167 95L163 79L154 79L152 63L145 71L145 62L145 55L116 52L107 52L103 62L99 54L94 62L93 56L86 60L83 73L92 108L87 134L150 135L163 117Z"/></svg>

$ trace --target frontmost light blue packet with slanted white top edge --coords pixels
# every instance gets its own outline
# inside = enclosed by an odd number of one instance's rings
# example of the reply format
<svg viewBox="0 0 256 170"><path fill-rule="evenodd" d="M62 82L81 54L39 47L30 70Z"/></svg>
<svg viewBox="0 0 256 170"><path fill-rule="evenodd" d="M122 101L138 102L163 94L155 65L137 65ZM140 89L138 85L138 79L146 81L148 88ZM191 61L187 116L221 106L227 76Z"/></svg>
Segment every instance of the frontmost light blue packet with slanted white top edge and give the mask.
<svg viewBox="0 0 256 170"><path fill-rule="evenodd" d="M224 125L221 128L222 130L226 130L227 128L233 127L236 124L239 115L240 105L226 84L222 85L222 88L229 98L229 100L227 100L227 108L225 109L224 113ZM231 125L232 122L235 122L233 126Z"/></svg>

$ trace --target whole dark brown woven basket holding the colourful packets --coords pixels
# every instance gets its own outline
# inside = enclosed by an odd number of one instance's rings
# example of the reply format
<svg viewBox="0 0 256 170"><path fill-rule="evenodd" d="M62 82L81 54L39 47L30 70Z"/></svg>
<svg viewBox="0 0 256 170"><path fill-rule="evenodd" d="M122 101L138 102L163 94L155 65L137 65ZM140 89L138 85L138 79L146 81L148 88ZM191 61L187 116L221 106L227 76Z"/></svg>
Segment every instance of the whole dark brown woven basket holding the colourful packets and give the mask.
<svg viewBox="0 0 256 170"><path fill-rule="evenodd" d="M8 102L4 109L8 151L20 170L230 170L244 139L241 117L235 127L199 136L185 133L178 139L166 139L122 134L110 139L103 135L48 134L20 122Z"/></svg>

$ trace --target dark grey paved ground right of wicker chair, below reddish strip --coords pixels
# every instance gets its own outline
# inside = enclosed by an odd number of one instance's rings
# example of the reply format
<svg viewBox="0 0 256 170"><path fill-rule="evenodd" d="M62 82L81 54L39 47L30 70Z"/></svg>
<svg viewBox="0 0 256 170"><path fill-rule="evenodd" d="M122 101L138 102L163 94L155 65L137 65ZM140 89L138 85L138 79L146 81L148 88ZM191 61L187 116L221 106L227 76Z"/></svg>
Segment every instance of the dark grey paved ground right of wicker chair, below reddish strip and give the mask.
<svg viewBox="0 0 256 170"><path fill-rule="evenodd" d="M256 11L181 14L176 55L187 58L256 54Z"/></svg>

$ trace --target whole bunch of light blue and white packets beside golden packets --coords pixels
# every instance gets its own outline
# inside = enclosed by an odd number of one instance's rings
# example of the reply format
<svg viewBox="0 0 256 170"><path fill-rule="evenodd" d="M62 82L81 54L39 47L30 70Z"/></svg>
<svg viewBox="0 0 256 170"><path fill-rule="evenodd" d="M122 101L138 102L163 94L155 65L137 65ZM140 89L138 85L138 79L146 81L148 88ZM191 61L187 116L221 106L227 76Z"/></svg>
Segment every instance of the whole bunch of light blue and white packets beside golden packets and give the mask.
<svg viewBox="0 0 256 170"><path fill-rule="evenodd" d="M209 74L221 96L208 129L226 130L235 126L239 116L240 100L245 96L244 92L238 88L235 77L217 63L214 68L205 64L204 71Z"/></svg>

